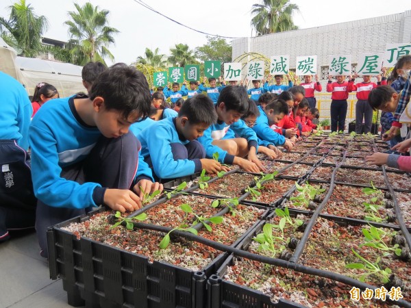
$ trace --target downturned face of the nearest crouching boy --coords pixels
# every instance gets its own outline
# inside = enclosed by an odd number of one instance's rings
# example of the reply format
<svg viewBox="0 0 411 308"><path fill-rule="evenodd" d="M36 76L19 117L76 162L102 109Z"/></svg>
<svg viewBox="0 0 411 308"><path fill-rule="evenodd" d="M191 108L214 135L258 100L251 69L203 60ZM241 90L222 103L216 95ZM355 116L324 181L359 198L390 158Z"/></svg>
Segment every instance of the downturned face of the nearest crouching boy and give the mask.
<svg viewBox="0 0 411 308"><path fill-rule="evenodd" d="M130 125L138 120L137 112L132 112L127 118L119 110L107 110L105 105L95 107L95 124L105 138L119 138L128 133Z"/></svg>

